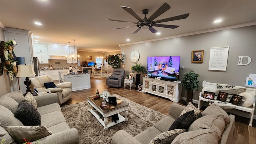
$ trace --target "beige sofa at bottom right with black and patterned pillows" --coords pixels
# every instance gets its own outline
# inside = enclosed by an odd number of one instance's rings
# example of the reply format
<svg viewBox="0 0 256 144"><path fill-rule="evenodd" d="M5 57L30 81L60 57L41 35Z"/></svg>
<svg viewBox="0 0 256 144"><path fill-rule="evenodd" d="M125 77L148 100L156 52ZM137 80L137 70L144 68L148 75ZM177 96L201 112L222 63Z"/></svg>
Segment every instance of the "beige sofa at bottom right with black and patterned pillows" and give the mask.
<svg viewBox="0 0 256 144"><path fill-rule="evenodd" d="M154 126L134 137L124 130L119 130L112 137L111 143L149 144L163 132L170 132L170 126L180 117L184 108L185 106L179 104L171 104L169 116L166 116ZM237 132L234 123L234 115L228 115L223 109L213 104L202 112L202 117L197 118L188 130L185 130L186 132L180 132L177 136L174 136L171 144L236 144ZM170 144L170 141L168 142ZM166 141L154 141L152 143L164 144Z"/></svg>

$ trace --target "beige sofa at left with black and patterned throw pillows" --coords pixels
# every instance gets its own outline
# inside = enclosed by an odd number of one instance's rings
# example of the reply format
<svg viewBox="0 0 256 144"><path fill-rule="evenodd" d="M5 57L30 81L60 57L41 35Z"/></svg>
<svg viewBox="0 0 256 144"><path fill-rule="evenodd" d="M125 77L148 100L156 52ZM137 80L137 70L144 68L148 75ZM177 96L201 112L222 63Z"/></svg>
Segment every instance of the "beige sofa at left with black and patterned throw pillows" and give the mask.
<svg viewBox="0 0 256 144"><path fill-rule="evenodd" d="M34 96L34 99L41 117L41 125L23 126L14 114L18 103L23 103L22 92L0 96L0 140L5 139L5 144L19 144L22 142L22 139L18 140L20 138L32 139L32 143L39 140L40 144L78 144L78 131L66 123L58 104L57 94L43 94Z"/></svg>

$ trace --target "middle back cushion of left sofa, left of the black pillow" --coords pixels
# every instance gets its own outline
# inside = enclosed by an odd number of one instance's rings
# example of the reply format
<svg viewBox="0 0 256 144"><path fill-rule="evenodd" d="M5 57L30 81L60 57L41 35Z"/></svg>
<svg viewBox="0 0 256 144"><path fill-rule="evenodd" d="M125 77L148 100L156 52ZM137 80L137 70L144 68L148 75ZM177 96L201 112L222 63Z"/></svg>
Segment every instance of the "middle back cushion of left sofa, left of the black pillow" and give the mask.
<svg viewBox="0 0 256 144"><path fill-rule="evenodd" d="M2 105L0 105L0 123L3 128L5 126L23 126L22 122L15 118L13 113Z"/></svg>

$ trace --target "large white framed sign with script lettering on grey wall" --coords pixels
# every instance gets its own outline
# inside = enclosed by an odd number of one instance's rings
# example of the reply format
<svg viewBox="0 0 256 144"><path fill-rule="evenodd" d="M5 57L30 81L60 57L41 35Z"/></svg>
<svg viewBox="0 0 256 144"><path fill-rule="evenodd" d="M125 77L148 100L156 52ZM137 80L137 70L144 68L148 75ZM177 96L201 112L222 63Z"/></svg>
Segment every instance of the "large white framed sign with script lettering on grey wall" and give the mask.
<svg viewBox="0 0 256 144"><path fill-rule="evenodd" d="M226 71L228 64L229 47L211 48L208 70Z"/></svg>

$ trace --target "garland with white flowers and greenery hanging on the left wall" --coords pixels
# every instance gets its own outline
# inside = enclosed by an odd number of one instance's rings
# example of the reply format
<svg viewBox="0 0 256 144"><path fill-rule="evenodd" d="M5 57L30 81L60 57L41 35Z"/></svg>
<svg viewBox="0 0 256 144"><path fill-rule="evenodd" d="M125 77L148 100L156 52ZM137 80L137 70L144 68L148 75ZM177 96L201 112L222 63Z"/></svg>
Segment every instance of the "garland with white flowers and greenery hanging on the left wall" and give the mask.
<svg viewBox="0 0 256 144"><path fill-rule="evenodd" d="M4 71L9 76L10 81L17 75L16 56L13 52L16 46L15 40L1 41L0 43L0 58L4 65Z"/></svg>

